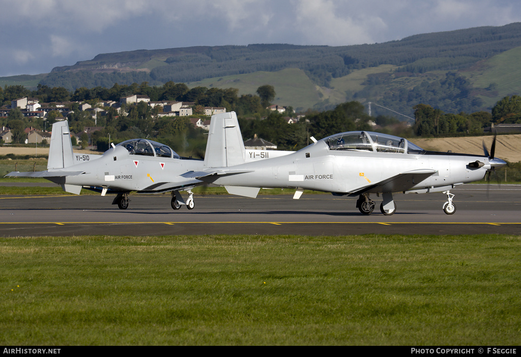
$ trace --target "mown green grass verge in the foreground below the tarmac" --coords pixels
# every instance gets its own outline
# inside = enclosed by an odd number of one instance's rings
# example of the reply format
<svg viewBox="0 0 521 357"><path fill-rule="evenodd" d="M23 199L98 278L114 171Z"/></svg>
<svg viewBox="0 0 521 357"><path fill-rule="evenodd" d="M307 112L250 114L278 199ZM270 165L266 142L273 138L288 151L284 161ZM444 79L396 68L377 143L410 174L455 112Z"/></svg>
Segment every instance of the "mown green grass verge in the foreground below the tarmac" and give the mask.
<svg viewBox="0 0 521 357"><path fill-rule="evenodd" d="M519 345L521 238L0 238L4 345Z"/></svg>

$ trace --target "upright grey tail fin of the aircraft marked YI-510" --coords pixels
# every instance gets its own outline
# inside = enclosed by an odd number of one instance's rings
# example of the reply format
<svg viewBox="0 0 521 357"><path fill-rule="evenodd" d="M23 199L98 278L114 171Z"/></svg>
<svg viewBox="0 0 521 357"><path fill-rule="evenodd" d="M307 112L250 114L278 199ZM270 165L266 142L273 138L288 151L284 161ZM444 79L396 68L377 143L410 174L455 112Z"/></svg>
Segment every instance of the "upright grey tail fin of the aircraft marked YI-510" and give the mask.
<svg viewBox="0 0 521 357"><path fill-rule="evenodd" d="M69 123L67 121L58 121L53 124L47 170L69 167L73 164L73 160Z"/></svg>

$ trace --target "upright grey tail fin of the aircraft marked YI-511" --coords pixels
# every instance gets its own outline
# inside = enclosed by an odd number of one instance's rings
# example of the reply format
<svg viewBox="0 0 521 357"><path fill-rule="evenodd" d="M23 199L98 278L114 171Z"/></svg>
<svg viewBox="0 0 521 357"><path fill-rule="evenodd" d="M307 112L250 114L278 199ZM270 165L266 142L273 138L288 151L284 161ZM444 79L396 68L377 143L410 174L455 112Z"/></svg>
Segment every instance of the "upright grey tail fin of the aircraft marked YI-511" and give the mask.
<svg viewBox="0 0 521 357"><path fill-rule="evenodd" d="M215 114L210 121L205 168L219 168L244 163L244 142L237 121L237 114Z"/></svg>

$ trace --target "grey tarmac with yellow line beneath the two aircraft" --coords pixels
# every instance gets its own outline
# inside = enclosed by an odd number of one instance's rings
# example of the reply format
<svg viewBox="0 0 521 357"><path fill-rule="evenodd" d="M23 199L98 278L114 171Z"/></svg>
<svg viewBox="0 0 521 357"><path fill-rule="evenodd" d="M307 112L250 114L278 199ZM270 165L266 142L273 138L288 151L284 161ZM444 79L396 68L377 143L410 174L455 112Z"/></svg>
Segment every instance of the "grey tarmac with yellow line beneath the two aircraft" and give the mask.
<svg viewBox="0 0 521 357"><path fill-rule="evenodd" d="M170 207L170 195L131 195L127 210L114 196L1 196L0 236L78 235L351 235L521 234L521 185L462 185L451 190L456 212L442 211L446 195L395 194L396 213L362 215L356 198L332 195L194 195L195 208Z"/></svg>

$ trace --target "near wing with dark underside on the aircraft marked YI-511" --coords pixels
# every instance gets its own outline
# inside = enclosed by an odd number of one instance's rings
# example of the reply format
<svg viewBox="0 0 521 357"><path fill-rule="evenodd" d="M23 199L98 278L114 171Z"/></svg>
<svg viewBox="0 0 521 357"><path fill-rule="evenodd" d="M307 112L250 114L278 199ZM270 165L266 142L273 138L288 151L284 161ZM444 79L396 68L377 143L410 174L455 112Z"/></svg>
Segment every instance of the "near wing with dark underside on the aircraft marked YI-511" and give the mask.
<svg viewBox="0 0 521 357"><path fill-rule="evenodd" d="M355 192L349 194L349 196L358 196L365 193L406 191L408 189L413 188L421 181L424 181L425 179L427 179L427 177L432 176L436 172L436 170L431 169L407 171L389 177L389 179L359 188Z"/></svg>

